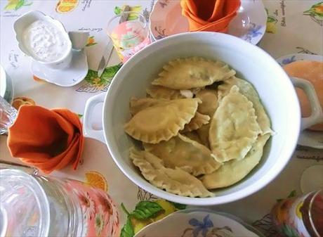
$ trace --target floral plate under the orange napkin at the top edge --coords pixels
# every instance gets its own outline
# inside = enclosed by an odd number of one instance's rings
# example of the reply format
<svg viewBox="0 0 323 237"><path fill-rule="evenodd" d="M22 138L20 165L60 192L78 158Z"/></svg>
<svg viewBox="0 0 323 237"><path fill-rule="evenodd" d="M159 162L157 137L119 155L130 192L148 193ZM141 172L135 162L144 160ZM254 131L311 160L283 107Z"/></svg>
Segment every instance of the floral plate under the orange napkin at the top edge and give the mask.
<svg viewBox="0 0 323 237"><path fill-rule="evenodd" d="M242 0L237 16L229 25L228 34L258 44L265 34L267 14L263 1ZM150 14L152 41L172 34L188 32L188 22L181 13L179 0L157 0Z"/></svg>

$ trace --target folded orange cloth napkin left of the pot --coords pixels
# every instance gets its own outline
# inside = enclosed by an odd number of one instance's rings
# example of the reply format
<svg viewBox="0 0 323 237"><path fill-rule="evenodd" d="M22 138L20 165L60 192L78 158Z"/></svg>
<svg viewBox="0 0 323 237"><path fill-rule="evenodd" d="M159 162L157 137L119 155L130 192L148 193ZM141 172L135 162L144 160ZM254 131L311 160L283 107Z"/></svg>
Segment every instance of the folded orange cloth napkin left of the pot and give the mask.
<svg viewBox="0 0 323 237"><path fill-rule="evenodd" d="M36 105L22 105L8 129L11 155L46 174L70 162L76 169L83 145L79 116L67 109L48 110Z"/></svg>

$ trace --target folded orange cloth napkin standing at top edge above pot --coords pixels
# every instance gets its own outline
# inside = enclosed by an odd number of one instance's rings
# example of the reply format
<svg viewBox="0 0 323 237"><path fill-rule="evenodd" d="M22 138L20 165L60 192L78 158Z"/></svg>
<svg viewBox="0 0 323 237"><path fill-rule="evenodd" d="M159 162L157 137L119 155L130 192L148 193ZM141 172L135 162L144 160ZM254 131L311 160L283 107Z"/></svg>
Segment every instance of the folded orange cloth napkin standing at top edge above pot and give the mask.
<svg viewBox="0 0 323 237"><path fill-rule="evenodd" d="M228 32L228 25L237 15L240 0L181 0L182 14L190 31Z"/></svg>

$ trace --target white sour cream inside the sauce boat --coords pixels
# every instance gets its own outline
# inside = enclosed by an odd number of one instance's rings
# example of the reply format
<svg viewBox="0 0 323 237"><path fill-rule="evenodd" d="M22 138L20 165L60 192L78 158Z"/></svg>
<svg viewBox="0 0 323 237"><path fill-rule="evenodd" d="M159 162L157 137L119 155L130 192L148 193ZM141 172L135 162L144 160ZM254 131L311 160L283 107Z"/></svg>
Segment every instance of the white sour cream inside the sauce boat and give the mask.
<svg viewBox="0 0 323 237"><path fill-rule="evenodd" d="M66 56L70 51L65 32L45 20L36 20L23 34L24 44L36 60L53 62Z"/></svg>

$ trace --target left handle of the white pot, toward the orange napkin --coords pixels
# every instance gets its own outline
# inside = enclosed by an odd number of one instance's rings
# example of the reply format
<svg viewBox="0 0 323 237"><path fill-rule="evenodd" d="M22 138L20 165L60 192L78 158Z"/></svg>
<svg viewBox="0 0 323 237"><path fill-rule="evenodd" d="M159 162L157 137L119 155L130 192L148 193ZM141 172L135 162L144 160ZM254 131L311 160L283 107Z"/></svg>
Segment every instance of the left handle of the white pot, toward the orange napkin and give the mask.
<svg viewBox="0 0 323 237"><path fill-rule="evenodd" d="M91 139L96 139L105 143L105 135L103 129L95 130L92 128L92 114L93 108L98 103L103 103L105 101L105 93L92 96L86 101L85 110L84 110L84 121L83 121L83 131L84 136Z"/></svg>

